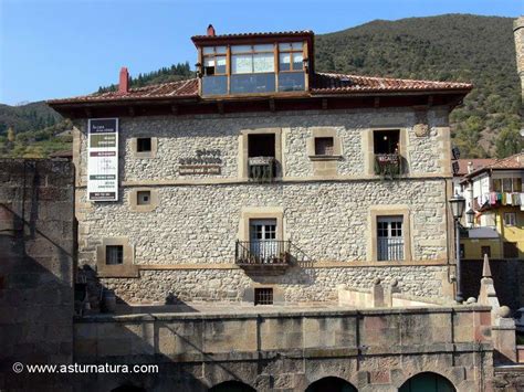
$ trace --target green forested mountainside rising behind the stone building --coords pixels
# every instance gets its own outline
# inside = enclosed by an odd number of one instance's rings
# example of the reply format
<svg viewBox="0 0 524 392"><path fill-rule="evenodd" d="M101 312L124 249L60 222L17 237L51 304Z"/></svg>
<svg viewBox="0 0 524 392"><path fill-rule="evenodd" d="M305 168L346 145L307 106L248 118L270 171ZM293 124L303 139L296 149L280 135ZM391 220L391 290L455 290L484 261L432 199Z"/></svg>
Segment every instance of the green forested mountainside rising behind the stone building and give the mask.
<svg viewBox="0 0 524 392"><path fill-rule="evenodd" d="M524 148L518 135L522 103L512 29L511 18L468 14L377 20L316 35L315 66L318 72L472 82L475 89L451 115L453 141L463 157L507 156ZM188 77L193 77L189 63L176 64L139 74L130 85ZM98 92L115 88L111 85ZM36 115L31 114L36 108ZM49 116L55 124L35 137L42 125L49 126ZM9 127L15 140L7 148ZM31 151L32 146L49 142L63 127L60 116L42 103L0 105L0 155L45 155ZM51 135L49 140L38 140L46 135ZM25 148L14 151L19 139L25 140Z"/></svg>

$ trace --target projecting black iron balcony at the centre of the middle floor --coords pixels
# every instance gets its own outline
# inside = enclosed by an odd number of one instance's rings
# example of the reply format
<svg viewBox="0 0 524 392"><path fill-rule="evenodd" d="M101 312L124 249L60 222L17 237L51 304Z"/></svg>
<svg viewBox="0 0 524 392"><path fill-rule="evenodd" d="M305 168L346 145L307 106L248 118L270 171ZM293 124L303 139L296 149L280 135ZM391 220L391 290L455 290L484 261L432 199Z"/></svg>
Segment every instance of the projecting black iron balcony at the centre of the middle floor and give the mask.
<svg viewBox="0 0 524 392"><path fill-rule="evenodd" d="M291 266L291 241L237 241L235 264L245 272L280 275Z"/></svg>

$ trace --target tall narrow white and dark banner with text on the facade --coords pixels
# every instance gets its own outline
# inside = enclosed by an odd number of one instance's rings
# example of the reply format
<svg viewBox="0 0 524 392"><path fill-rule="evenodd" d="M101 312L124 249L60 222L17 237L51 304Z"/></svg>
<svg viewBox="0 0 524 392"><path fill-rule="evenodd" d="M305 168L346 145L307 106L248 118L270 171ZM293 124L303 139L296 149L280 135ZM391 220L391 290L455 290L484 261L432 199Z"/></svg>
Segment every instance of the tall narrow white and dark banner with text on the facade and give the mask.
<svg viewBox="0 0 524 392"><path fill-rule="evenodd" d="M118 118L87 121L87 200L118 200Z"/></svg>

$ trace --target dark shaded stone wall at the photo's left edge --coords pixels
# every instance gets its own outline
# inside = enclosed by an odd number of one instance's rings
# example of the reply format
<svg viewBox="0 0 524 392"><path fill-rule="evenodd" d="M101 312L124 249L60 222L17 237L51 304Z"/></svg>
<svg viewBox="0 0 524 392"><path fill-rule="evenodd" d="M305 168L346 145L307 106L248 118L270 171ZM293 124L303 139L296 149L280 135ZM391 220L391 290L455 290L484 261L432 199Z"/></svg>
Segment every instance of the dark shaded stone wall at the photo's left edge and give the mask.
<svg viewBox="0 0 524 392"><path fill-rule="evenodd" d="M17 375L14 362L72 361L73 181L69 161L0 160L2 391L59 388L52 374Z"/></svg>

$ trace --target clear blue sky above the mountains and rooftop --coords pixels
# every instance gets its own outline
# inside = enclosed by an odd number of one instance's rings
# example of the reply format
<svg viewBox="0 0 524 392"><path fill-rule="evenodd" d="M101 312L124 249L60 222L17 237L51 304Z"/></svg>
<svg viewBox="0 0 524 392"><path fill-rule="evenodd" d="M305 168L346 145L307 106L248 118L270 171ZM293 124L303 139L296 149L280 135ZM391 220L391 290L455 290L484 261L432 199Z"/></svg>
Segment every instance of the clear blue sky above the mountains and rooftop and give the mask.
<svg viewBox="0 0 524 392"><path fill-rule="evenodd" d="M311 29L442 13L517 17L523 0L0 0L0 103L88 94L172 63L196 63L189 38Z"/></svg>

